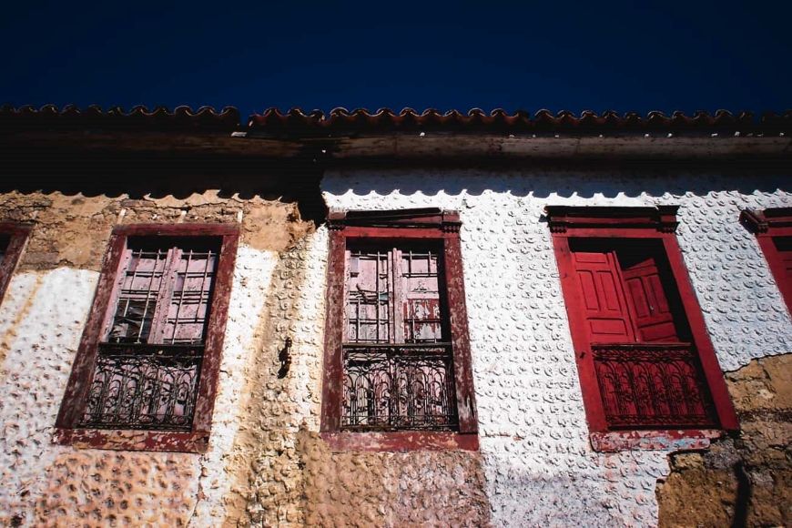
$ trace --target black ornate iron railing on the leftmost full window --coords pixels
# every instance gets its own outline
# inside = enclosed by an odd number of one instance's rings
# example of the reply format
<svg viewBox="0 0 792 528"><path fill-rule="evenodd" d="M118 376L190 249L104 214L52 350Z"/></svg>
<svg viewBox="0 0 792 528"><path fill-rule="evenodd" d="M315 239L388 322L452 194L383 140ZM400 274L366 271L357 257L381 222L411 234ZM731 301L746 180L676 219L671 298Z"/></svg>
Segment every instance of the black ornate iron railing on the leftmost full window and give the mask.
<svg viewBox="0 0 792 528"><path fill-rule="evenodd" d="M202 345L102 343L80 427L188 431Z"/></svg>

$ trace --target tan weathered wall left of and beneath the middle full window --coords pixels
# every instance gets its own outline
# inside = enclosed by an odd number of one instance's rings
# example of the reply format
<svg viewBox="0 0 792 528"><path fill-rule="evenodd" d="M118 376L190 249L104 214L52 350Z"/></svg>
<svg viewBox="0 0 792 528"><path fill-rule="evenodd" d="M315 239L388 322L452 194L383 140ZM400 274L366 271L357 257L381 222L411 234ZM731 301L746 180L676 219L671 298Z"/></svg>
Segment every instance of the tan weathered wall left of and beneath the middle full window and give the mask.
<svg viewBox="0 0 792 528"><path fill-rule="evenodd" d="M327 231L281 254L234 444L228 524L470 525L489 521L476 452L331 452L320 439ZM289 372L279 351L292 340Z"/></svg>

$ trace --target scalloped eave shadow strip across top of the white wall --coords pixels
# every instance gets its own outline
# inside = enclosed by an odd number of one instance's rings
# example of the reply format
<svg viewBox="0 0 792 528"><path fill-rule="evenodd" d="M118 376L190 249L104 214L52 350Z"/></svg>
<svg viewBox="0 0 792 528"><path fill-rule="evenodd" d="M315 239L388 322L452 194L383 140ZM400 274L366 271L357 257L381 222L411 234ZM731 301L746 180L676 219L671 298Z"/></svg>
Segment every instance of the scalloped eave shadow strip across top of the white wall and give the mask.
<svg viewBox="0 0 792 528"><path fill-rule="evenodd" d="M331 171L322 181L322 190L330 195L353 193L355 196L402 196L421 193L435 196L465 194L481 196L487 191L531 198L640 198L662 197L664 194L684 196L693 193L705 196L711 192L732 192L735 195L788 191L790 175L780 172L758 174L743 171L729 174L717 172L685 172L659 170L542 170L493 171L454 170L357 170Z"/></svg>

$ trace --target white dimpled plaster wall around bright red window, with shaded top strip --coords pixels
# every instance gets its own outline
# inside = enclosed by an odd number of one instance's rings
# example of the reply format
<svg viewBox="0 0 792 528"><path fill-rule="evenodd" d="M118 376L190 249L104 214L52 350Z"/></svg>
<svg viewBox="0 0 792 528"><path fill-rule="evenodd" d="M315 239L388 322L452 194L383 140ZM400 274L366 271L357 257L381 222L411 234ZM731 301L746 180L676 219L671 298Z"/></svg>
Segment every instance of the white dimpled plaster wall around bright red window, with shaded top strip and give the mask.
<svg viewBox="0 0 792 528"><path fill-rule="evenodd" d="M792 205L787 178L569 172L332 172L331 208L462 215L462 257L494 525L646 525L666 452L592 452L548 204L680 205L678 238L721 367L792 351L792 323L740 208ZM320 249L326 251L326 249Z"/></svg>

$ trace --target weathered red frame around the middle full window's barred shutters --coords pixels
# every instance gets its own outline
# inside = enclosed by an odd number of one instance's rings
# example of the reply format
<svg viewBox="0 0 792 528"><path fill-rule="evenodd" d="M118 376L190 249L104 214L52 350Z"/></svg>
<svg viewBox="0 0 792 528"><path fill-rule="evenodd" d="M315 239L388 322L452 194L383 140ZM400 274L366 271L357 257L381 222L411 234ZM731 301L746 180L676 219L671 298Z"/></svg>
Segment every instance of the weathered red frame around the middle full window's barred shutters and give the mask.
<svg viewBox="0 0 792 528"><path fill-rule="evenodd" d="M473 391L470 338L465 306L459 214L439 208L394 211L332 211L328 217L328 259L325 317L321 437L336 451L410 451L479 449L478 417ZM348 240L423 239L442 243L448 299L459 429L456 432L345 432L340 429L342 405L342 341L344 328L344 254Z"/></svg>

